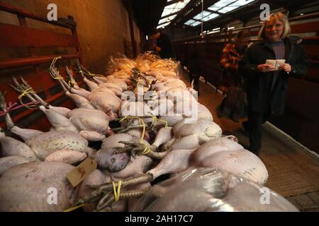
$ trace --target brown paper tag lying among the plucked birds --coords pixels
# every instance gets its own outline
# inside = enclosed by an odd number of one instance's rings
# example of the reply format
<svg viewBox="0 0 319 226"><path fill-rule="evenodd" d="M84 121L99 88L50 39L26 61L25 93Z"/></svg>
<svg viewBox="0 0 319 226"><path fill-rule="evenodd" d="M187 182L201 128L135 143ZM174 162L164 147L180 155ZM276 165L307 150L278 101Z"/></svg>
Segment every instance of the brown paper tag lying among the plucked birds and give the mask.
<svg viewBox="0 0 319 226"><path fill-rule="evenodd" d="M72 169L69 174L67 174L67 179L72 184L73 187L81 183L86 177L91 174L97 167L96 160L92 160L90 157L87 157L86 160L81 162L80 165Z"/></svg>

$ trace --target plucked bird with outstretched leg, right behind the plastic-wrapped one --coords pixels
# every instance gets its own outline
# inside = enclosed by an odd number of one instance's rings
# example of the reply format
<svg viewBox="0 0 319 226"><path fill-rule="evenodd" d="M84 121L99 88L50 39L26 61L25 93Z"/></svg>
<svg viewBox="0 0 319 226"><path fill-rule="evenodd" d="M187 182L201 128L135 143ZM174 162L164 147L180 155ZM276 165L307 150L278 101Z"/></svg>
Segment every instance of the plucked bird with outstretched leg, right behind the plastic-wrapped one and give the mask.
<svg viewBox="0 0 319 226"><path fill-rule="evenodd" d="M151 182L162 174L174 174L194 167L208 167L208 165L205 165L206 162L209 162L209 160L213 162L215 160L215 156L213 156L213 154L209 155L207 151L220 150L217 151L217 153L230 153L232 150L235 150L235 152L236 150L241 150L242 152L245 151L242 150L242 146L237 144L234 140L235 137L227 136L223 138L215 138L213 141L211 141L211 143L204 143L202 149L199 147L189 150L171 150L163 157L163 159L155 168L150 169L146 174L135 177L135 180L128 179L124 180L123 183L130 184L130 182L134 181L135 183L136 181L140 180L143 183ZM222 146L222 148L218 149L218 145ZM203 159L203 162L201 165L199 165L198 162L200 162L201 159ZM245 165L242 165L241 163L244 163ZM250 163L252 165L250 165ZM233 172L234 174L241 175L245 179L260 184L264 184L268 176L267 169L264 167L263 163L256 155L252 153L251 155L225 155L223 160L217 161L216 165L209 165L209 167L215 167L217 169L223 169L227 172ZM96 186L96 188L99 189L99 192L103 192L103 189L108 188L108 186L109 185L104 184L101 186Z"/></svg>

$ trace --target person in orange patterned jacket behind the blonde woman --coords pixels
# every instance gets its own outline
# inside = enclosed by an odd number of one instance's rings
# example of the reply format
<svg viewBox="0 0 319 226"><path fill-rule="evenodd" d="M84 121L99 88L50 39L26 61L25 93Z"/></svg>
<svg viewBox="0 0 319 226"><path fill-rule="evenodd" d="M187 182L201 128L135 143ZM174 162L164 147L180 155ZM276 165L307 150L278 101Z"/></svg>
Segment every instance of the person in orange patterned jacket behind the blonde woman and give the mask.
<svg viewBox="0 0 319 226"><path fill-rule="evenodd" d="M250 42L250 32L241 30L235 36L235 41L226 44L220 57L222 73L220 78L220 90L226 92L231 86L238 87L242 77L238 73L238 61L242 58Z"/></svg>

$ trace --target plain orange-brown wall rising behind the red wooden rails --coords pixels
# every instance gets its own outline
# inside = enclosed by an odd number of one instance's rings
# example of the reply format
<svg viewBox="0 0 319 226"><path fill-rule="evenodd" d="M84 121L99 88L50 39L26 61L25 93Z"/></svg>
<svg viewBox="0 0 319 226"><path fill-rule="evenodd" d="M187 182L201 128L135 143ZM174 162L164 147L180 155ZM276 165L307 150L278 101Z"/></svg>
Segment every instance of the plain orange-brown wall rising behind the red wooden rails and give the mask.
<svg viewBox="0 0 319 226"><path fill-rule="evenodd" d="M49 0L0 0L4 4L16 6L38 16L46 17ZM73 16L77 23L77 33L82 47L86 67L94 73L105 73L109 57L125 53L124 40L131 42L128 11L119 0L55 0L57 17ZM0 14L0 21L15 24L13 16ZM140 31L133 22L134 38L140 47Z"/></svg>

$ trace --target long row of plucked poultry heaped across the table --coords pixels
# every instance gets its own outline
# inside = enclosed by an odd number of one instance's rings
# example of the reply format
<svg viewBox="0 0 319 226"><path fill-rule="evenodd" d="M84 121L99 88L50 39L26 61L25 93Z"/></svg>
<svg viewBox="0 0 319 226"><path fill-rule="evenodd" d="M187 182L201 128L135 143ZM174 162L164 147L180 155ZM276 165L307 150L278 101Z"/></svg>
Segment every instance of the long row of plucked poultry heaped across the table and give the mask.
<svg viewBox="0 0 319 226"><path fill-rule="evenodd" d="M13 124L5 94L1 94L0 107L7 129L24 140L18 141L0 131L1 211L63 211L72 207L85 211L142 210L138 208L141 196L150 192L157 197L168 191L172 194L174 183L162 189L151 184L157 177L199 167L217 170L211 178L222 179L218 181L218 191L223 197L233 196L231 210L295 210L284 198L280 200L284 207L260 207L257 188L267 181L266 167L234 136L223 136L211 112L197 102L196 91L179 79L178 62L157 59L150 53L135 60L112 59L107 76L90 73L77 62L76 72L88 88L84 89L77 85L69 69L69 81L65 81L55 61L50 75L77 108L49 105L23 78L13 78L12 85L30 102L37 103L52 125L50 131L23 129ZM118 121L121 126L111 129L111 121ZM89 141L100 141L101 148L94 150ZM87 158L96 161L97 168L72 186L67 175ZM230 175L237 178L236 183ZM238 184L246 186L236 190ZM48 201L49 188L57 190L53 203ZM173 196L169 198L172 203L166 201L166 208L155 210L216 210L216 202L208 202L206 195L203 202L196 192L179 201L174 201L174 197L180 196ZM245 205L236 203L236 194L245 196L246 201L255 200ZM220 198L216 192L208 195L214 200ZM196 203L192 203L193 199Z"/></svg>

